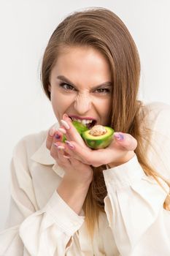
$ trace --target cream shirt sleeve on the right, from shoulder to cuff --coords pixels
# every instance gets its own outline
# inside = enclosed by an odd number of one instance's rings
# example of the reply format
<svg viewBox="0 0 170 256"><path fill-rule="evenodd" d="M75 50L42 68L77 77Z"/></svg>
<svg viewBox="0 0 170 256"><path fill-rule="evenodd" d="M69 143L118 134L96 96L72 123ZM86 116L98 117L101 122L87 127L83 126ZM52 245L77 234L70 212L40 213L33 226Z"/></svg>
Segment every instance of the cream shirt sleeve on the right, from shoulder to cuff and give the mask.
<svg viewBox="0 0 170 256"><path fill-rule="evenodd" d="M170 178L170 108L152 119L151 128L154 150L148 159L158 173ZM104 170L104 179L108 192L105 211L120 255L170 255L170 211L163 208L169 193L166 182L158 178L161 187L152 176L146 176L136 155L123 165Z"/></svg>

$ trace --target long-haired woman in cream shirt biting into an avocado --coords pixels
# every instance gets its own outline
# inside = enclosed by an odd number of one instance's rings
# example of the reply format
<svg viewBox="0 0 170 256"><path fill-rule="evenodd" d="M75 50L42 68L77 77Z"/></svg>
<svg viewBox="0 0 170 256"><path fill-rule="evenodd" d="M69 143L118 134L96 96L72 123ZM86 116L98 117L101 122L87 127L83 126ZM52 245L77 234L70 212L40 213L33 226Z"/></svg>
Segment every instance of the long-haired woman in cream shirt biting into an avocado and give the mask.
<svg viewBox="0 0 170 256"><path fill-rule="evenodd" d="M15 147L1 255L170 255L170 108L137 100L139 75L134 40L111 11L58 25L42 84L59 124ZM75 120L112 127L112 143L88 148Z"/></svg>

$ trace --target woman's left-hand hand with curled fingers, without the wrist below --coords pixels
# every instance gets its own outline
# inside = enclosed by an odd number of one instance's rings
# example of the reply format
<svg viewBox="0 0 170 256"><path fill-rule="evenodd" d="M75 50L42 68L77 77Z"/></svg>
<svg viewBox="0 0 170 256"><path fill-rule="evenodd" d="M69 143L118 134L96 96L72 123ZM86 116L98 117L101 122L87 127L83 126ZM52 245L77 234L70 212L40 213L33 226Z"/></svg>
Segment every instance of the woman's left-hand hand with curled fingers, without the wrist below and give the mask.
<svg viewBox="0 0 170 256"><path fill-rule="evenodd" d="M63 127L61 127L62 129ZM62 139L62 132L51 127L47 135L46 146L50 150L50 155L65 171L64 179L72 181L74 184L90 184L93 178L92 168L79 159L66 154L67 146L66 143L62 143Z"/></svg>

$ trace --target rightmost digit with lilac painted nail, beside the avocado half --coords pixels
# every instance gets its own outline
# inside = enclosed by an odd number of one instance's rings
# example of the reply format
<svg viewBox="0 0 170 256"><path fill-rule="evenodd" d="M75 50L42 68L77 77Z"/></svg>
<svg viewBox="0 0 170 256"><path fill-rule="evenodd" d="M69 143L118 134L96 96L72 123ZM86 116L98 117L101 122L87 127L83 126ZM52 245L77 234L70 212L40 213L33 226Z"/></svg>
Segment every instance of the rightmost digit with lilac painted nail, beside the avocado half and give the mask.
<svg viewBox="0 0 170 256"><path fill-rule="evenodd" d="M134 151L137 146L137 140L128 133L115 132L115 141L126 151Z"/></svg>

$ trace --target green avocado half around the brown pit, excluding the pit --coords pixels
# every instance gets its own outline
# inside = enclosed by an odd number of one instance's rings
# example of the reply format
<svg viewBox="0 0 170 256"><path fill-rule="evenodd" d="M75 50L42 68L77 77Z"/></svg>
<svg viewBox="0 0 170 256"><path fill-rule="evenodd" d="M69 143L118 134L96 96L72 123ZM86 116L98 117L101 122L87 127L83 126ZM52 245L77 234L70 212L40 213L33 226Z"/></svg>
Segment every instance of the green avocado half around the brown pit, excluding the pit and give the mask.
<svg viewBox="0 0 170 256"><path fill-rule="evenodd" d="M105 127L107 129L107 134L101 136L92 136L88 135L88 131L82 132L82 138L85 140L86 145L89 148L99 149L99 148L107 148L109 144L112 142L112 136L114 134L114 129L111 127Z"/></svg>

